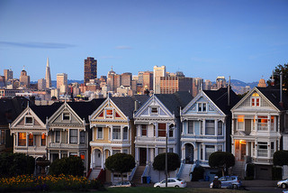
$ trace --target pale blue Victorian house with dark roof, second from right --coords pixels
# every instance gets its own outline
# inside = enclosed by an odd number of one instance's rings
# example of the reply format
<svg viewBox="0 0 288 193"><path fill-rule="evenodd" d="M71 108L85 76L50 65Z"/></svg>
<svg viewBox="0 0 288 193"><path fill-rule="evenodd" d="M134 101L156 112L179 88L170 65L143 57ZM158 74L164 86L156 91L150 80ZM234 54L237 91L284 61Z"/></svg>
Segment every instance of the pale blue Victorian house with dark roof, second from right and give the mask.
<svg viewBox="0 0 288 193"><path fill-rule="evenodd" d="M181 178L188 180L187 174L196 166L202 166L205 176L213 178L215 170L209 166L209 157L212 152L229 152L229 108L238 100L227 88L201 90L184 107L181 112Z"/></svg>

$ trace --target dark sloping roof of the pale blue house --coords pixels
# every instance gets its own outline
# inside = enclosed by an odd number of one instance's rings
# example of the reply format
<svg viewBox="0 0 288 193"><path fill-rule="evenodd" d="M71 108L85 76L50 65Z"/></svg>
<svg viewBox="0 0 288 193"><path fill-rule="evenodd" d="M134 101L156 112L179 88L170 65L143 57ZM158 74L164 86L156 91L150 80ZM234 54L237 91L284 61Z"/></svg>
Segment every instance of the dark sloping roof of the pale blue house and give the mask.
<svg viewBox="0 0 288 193"><path fill-rule="evenodd" d="M230 89L230 100L228 106L228 88L221 87L218 90L203 90L203 92L213 101L213 103L220 108L220 110L229 115L230 109L235 106L240 98L236 95L236 93Z"/></svg>

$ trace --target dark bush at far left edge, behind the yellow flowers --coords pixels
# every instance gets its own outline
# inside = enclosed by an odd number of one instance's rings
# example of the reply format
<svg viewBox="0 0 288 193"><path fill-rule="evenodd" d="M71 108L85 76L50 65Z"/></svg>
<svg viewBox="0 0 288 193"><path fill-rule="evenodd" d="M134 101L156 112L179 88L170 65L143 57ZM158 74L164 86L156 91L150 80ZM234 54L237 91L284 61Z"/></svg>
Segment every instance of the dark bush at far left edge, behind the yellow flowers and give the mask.
<svg viewBox="0 0 288 193"><path fill-rule="evenodd" d="M23 153L0 154L0 177L13 177L23 174L32 174L35 168L35 159Z"/></svg>

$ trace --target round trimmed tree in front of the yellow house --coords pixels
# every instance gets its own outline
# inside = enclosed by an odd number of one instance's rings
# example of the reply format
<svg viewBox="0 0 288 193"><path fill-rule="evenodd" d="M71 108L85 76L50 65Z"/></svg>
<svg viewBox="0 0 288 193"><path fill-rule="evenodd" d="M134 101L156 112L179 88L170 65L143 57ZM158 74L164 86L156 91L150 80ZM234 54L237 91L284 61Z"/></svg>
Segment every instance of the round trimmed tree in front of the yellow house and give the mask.
<svg viewBox="0 0 288 193"><path fill-rule="evenodd" d="M123 173L129 172L135 167L135 159L130 154L116 153L106 159L105 166L112 173L120 173L121 180L123 180Z"/></svg>

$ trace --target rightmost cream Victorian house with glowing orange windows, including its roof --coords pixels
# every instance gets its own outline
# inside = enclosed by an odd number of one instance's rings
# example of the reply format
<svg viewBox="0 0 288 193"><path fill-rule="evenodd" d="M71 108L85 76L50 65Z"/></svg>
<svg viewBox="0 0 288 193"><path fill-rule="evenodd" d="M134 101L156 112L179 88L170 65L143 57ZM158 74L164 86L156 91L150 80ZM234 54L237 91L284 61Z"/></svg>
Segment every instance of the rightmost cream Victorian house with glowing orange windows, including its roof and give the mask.
<svg viewBox="0 0 288 193"><path fill-rule="evenodd" d="M279 89L254 87L231 109L232 153L243 170L247 163L255 165L256 179L272 178L273 154L286 148L285 104L287 97Z"/></svg>

